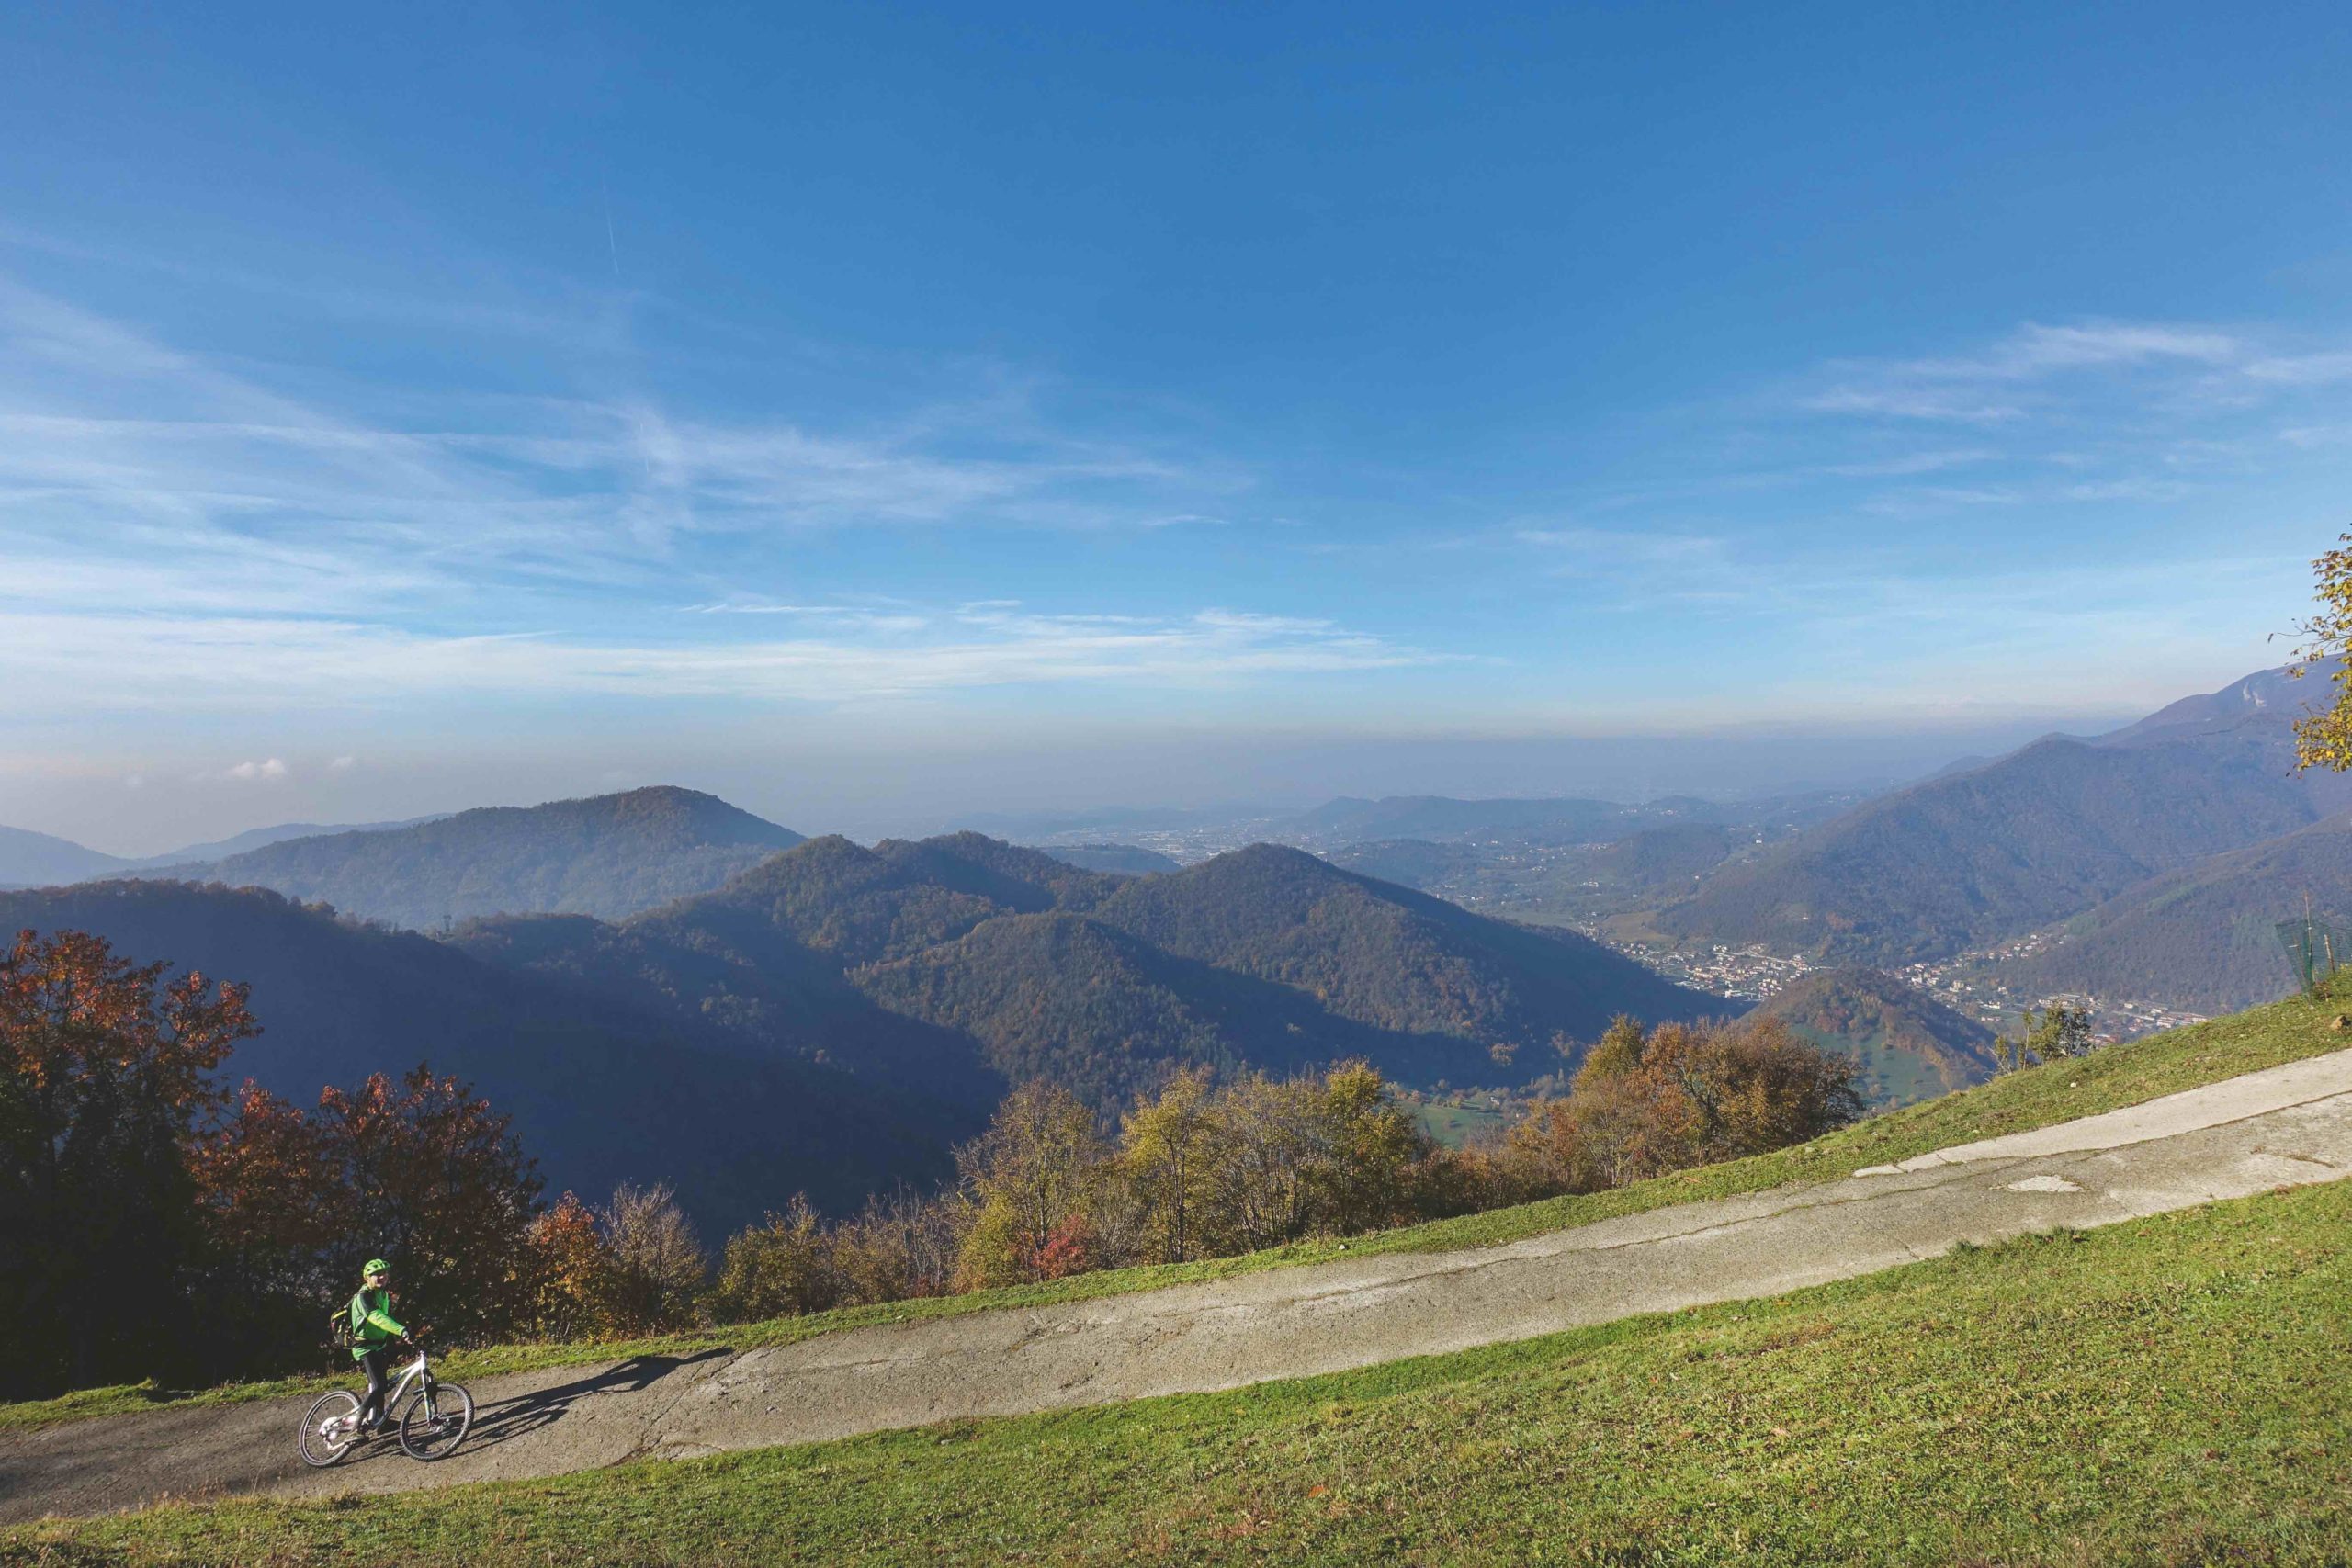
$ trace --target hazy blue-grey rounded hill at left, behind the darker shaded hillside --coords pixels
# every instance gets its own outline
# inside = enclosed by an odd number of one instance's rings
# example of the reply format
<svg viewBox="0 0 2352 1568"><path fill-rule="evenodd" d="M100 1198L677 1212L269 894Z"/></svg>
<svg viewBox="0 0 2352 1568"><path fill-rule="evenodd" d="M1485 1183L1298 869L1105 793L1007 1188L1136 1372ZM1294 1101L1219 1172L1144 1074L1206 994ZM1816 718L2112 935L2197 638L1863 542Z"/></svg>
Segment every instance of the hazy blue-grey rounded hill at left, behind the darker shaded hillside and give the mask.
<svg viewBox="0 0 2352 1568"><path fill-rule="evenodd" d="M663 785L287 839L162 875L266 886L343 914L437 931L499 912L619 919L715 889L800 842L790 827L713 795Z"/></svg>

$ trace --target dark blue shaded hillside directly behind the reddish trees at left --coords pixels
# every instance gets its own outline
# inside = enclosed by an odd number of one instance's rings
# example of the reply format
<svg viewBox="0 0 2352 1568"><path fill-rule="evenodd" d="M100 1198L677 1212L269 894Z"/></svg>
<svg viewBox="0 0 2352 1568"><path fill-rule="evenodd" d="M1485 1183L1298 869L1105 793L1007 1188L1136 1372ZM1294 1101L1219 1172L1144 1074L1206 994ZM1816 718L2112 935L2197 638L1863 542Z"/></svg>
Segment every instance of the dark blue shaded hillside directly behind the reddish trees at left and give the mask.
<svg viewBox="0 0 2352 1568"><path fill-rule="evenodd" d="M428 1060L515 1117L553 1190L602 1201L621 1180L668 1180L720 1234L800 1190L842 1211L896 1180L943 1178L950 1145L985 1126L1002 1093L993 1074L974 1091L969 1072L842 1072L814 1060L816 1034L729 1034L649 1006L644 992L485 964L256 889L96 882L0 893L0 924L94 931L125 957L249 983L263 1034L238 1046L230 1079L313 1105L327 1084ZM856 994L840 1006L826 1027L917 1032Z"/></svg>

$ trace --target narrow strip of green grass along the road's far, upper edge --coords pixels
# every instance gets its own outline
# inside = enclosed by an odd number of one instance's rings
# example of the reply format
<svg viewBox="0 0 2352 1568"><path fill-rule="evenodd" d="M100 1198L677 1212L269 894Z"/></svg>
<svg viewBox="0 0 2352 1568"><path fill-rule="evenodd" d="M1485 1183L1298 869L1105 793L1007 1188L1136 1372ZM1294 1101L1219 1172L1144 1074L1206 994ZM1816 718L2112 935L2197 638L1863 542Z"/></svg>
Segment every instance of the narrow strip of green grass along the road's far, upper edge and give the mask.
<svg viewBox="0 0 2352 1568"><path fill-rule="evenodd" d="M1367 1253L1439 1253L1463 1246L1496 1246L1541 1237L1573 1225L1590 1225L1623 1213L1644 1213L1672 1204L1736 1197L1740 1192L1764 1192L1790 1182L1823 1182L1851 1175L1863 1166L1910 1159L1931 1150L1945 1150L1976 1138L1999 1138L2023 1133L2074 1117L2140 1105L2157 1095L2216 1084L2241 1072L2277 1067L2279 1063L2321 1056L2347 1046L2331 1023L2333 1006L2305 999L2279 1001L2232 1018L2216 1018L2187 1030L2152 1034L2126 1046L2112 1046L2089 1058L2030 1067L2004 1074L1966 1093L1922 1100L1896 1112L1870 1117L1851 1128L1802 1143L1771 1154L1738 1159L1698 1171L1677 1171L1632 1187L1595 1192L1583 1197L1545 1199L1515 1208L1463 1215L1458 1220L1432 1220L1402 1229L1345 1241L1308 1241L1244 1258L1214 1258L1207 1262L1103 1269L1098 1274L1073 1274L1054 1284L1016 1286L1007 1291L978 1291L971 1295L941 1295L915 1302L887 1302L877 1307L847 1307L809 1316L786 1316L764 1324L731 1324L701 1333L677 1333L623 1342L574 1342L574 1345L501 1345L489 1349L459 1352L447 1359L447 1373L456 1380L492 1378L496 1373L532 1371L546 1366L583 1366L614 1361L635 1354L694 1354L717 1345L753 1349L757 1345L790 1345L797 1340L835 1333L840 1328L863 1328L868 1324L894 1324L962 1312L988 1312L995 1307L1033 1307L1065 1300L1089 1300L1120 1295L1127 1291L1152 1291L1160 1286L1223 1279L1254 1269L1296 1267L1308 1262L1331 1262L1341 1255L1362 1258ZM275 1399L301 1392L325 1392L334 1382L325 1378L292 1378L282 1382L228 1385L216 1389L158 1389L111 1387L82 1389L64 1399L0 1403L0 1427L40 1427L85 1415L118 1415L179 1403L228 1403L245 1399Z"/></svg>

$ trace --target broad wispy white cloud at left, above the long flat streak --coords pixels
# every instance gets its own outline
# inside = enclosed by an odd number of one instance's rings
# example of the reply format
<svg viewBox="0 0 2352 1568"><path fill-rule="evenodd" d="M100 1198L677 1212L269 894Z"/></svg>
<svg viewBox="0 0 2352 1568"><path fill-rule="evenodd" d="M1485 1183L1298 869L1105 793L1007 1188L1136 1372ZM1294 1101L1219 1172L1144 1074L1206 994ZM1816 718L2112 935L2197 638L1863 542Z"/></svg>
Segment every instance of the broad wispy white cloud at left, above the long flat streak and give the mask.
<svg viewBox="0 0 2352 1568"><path fill-rule="evenodd" d="M988 388L983 400L1002 404ZM508 400L499 423L372 418L0 280L0 592L350 614L501 588L635 590L689 541L837 529L1164 529L1247 475L1061 435L1033 409L877 430ZM1171 505L1174 503L1174 505Z"/></svg>

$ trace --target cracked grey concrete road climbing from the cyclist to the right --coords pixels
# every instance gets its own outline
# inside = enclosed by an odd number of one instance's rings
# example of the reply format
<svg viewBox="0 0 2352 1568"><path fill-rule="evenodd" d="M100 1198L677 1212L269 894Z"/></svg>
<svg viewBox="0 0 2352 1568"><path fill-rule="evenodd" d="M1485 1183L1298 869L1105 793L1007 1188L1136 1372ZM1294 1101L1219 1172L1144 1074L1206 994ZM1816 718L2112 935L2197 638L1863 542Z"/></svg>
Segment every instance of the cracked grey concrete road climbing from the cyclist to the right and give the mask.
<svg viewBox="0 0 2352 1568"><path fill-rule="evenodd" d="M494 1378L473 1389L475 1436L440 1465L376 1443L334 1469L306 1469L294 1458L294 1422L308 1399L0 1434L0 1523L176 1497L548 1476L647 1455L1230 1389L1780 1295L1931 1258L1957 1241L2114 1225L2347 1171L2352 1051L2340 1051L1839 1182L1684 1204L1510 1246Z"/></svg>

